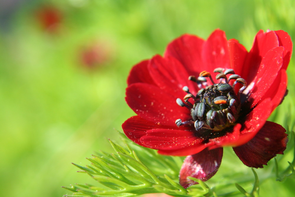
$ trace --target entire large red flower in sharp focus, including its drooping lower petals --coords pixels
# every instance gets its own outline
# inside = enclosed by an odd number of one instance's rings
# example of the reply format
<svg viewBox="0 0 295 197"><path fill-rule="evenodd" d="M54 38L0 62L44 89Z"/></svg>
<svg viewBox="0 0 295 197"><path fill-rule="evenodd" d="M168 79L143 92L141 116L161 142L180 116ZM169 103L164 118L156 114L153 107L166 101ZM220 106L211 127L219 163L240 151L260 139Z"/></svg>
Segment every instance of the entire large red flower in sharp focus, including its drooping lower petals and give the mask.
<svg viewBox="0 0 295 197"><path fill-rule="evenodd" d="M250 52L221 30L207 40L183 35L163 57L130 71L126 101L137 116L123 123L124 133L160 154L189 155L180 171L184 188L196 184L188 176L205 181L217 172L223 146L233 146L245 165L263 167L288 141L281 125L266 120L286 93L291 53L282 30L260 30Z"/></svg>

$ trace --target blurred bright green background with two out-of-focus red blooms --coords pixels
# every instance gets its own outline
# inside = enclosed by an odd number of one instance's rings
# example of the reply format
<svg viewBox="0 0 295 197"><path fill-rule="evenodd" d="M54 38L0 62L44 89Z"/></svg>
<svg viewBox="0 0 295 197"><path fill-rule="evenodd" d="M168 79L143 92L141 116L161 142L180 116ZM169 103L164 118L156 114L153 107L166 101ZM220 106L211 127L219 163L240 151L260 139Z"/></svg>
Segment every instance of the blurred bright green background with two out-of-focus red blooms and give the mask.
<svg viewBox="0 0 295 197"><path fill-rule="evenodd" d="M295 38L292 0L1 0L0 17L0 196L13 197L62 196L71 192L61 186L92 183L71 162L86 165L95 151L112 150L108 138L119 142L116 130L134 115L124 101L131 67L174 38L206 39L220 28L248 50L260 29ZM294 74L292 59L289 95L270 118L290 130ZM229 169L253 176L225 155L216 177ZM294 179L261 184L261 196L294 195Z"/></svg>

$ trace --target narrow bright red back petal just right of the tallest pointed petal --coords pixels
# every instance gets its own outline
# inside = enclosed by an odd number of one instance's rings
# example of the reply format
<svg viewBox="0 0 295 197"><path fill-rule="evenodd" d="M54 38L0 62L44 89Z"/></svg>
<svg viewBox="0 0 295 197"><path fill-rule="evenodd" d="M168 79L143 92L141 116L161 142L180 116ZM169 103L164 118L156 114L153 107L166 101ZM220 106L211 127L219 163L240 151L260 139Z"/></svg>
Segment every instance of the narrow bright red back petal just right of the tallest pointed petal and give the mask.
<svg viewBox="0 0 295 197"><path fill-rule="evenodd" d="M230 68L235 70L235 74L243 76L243 65L248 54L246 48L235 39L228 40L230 54Z"/></svg>

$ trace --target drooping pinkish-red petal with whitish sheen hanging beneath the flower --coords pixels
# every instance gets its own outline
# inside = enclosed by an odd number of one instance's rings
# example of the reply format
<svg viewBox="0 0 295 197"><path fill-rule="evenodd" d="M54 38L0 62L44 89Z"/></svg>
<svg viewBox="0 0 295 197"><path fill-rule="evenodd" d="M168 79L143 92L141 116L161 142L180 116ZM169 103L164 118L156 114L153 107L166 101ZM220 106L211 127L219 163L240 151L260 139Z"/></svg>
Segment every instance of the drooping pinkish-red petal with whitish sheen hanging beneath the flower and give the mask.
<svg viewBox="0 0 295 197"><path fill-rule="evenodd" d="M179 183L184 188L198 184L188 177L206 181L214 176L221 164L223 148L204 149L198 154L189 155L184 160L179 172Z"/></svg>

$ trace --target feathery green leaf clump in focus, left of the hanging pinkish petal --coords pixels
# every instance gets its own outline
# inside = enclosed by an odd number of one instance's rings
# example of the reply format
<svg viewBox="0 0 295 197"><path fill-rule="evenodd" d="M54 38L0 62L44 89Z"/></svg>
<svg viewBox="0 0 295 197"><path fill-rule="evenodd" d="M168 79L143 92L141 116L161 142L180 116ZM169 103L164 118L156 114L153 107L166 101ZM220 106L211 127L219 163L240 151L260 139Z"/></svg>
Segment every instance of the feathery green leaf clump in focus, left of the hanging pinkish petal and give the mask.
<svg viewBox="0 0 295 197"><path fill-rule="evenodd" d="M134 146L145 162L150 161L148 168L130 146L126 148L109 140L116 154L97 153L87 158L91 165L86 167L74 164L82 173L88 174L98 181L101 187L89 184L76 184L64 187L72 192L65 196L137 196L145 193L167 193L171 196L203 196L209 192L209 187L195 178L200 184L190 190L184 189L178 182L180 157L165 157L158 155L152 149ZM154 166L154 167L153 167ZM176 168L175 168L176 167ZM158 170L157 170L158 169ZM166 171L164 170L166 169ZM174 169L177 169L174 170ZM163 173L165 172L165 174ZM105 187L103 187L105 186Z"/></svg>

